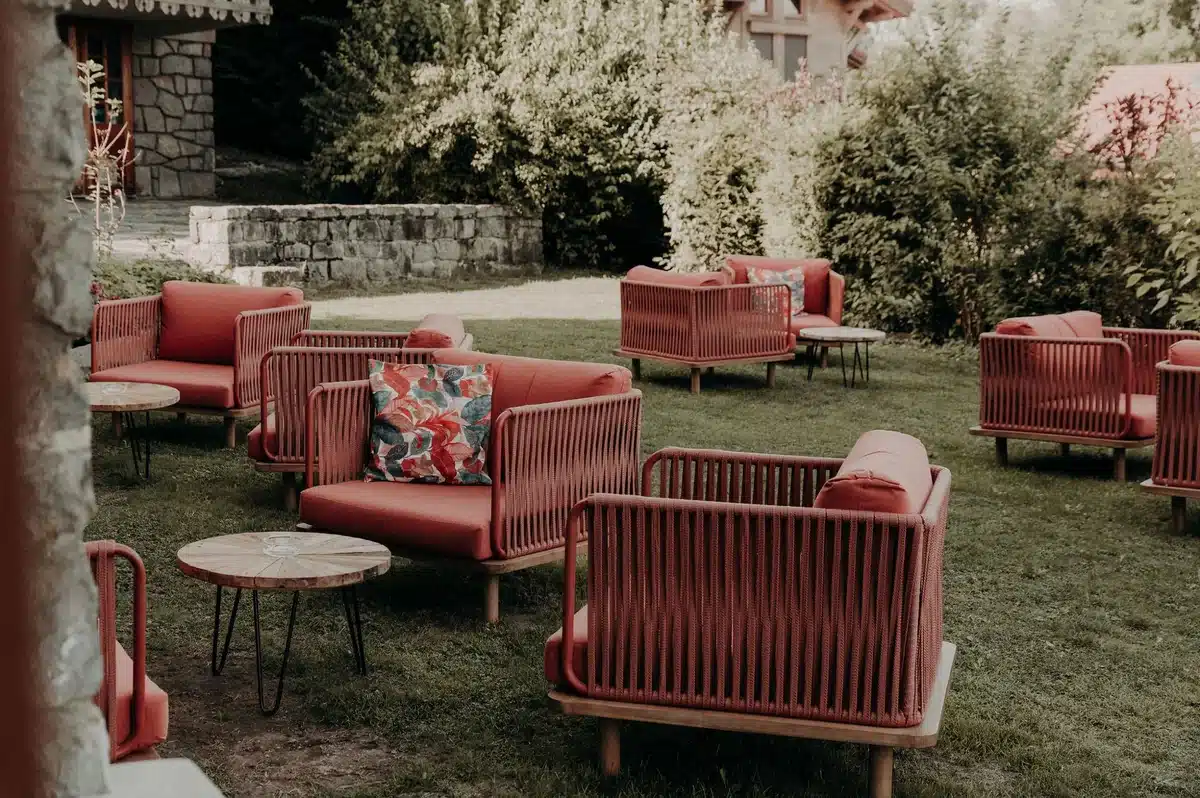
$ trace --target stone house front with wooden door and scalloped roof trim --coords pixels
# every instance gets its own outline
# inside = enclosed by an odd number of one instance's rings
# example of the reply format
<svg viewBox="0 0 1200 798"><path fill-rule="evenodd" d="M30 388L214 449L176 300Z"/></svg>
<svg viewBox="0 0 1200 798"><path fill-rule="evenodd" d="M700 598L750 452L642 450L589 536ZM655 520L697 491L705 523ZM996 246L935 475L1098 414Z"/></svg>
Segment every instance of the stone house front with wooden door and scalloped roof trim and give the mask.
<svg viewBox="0 0 1200 798"><path fill-rule="evenodd" d="M122 106L118 119L94 109L96 124L127 124L137 152L126 193L216 194L212 42L220 28L270 18L270 0L71 0L59 36L79 61L104 67L104 89Z"/></svg>

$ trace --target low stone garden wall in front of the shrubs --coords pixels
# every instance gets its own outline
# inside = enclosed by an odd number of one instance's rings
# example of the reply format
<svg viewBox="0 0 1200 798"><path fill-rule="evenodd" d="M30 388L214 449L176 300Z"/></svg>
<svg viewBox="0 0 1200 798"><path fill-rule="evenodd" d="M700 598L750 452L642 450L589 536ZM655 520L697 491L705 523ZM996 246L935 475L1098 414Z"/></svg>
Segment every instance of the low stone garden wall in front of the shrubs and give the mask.
<svg viewBox="0 0 1200 798"><path fill-rule="evenodd" d="M386 283L541 271L541 220L498 205L194 206L193 265L239 283Z"/></svg>

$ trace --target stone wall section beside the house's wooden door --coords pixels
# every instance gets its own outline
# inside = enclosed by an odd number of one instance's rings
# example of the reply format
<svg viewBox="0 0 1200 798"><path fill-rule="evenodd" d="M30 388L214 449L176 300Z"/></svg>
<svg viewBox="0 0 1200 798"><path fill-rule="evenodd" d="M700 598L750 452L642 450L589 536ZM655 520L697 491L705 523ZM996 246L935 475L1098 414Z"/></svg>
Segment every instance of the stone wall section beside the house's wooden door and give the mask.
<svg viewBox="0 0 1200 798"><path fill-rule="evenodd" d="M214 41L212 31L160 38L134 32L134 180L144 197L216 196Z"/></svg>

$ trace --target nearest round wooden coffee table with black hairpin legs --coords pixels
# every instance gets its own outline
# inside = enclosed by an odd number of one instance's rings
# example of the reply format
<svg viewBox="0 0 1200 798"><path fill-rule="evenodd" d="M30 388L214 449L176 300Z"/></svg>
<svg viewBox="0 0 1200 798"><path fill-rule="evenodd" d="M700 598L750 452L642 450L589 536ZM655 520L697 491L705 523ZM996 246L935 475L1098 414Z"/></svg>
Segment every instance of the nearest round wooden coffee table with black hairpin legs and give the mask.
<svg viewBox="0 0 1200 798"><path fill-rule="evenodd" d="M254 610L254 672L258 682L258 708L264 715L274 715L283 696L283 679L288 670L292 650L292 630L296 622L296 605L302 590L342 592L346 624L350 630L350 650L361 676L367 673L367 654L362 643L362 616L355 586L379 576L391 568L391 552L386 546L330 535L324 532L250 532L222 535L188 544L176 556L179 570L187 576L217 586L216 612L212 619L212 676L220 676L229 656L229 641L238 618L238 604L242 589L251 592ZM221 593L234 588L233 608L226 629L224 647L217 659L217 642L221 637ZM287 640L283 643L283 661L280 665L275 688L275 703L266 704L263 692L263 643L258 619L259 590L292 590L292 612L288 617Z"/></svg>

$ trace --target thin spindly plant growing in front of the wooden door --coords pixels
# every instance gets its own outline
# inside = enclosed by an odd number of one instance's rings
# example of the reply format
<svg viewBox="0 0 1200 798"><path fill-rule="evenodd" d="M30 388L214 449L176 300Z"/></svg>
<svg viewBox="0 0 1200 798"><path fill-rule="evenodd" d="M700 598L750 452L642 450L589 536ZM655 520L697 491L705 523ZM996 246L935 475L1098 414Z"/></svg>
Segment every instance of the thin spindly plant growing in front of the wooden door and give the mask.
<svg viewBox="0 0 1200 798"><path fill-rule="evenodd" d="M79 181L97 257L113 252L113 236L125 221L125 170L133 162L130 124L121 101L104 88L104 67L96 61L76 65L84 116L88 119L88 155ZM119 121L114 121L119 120ZM84 209L70 200L82 217Z"/></svg>

